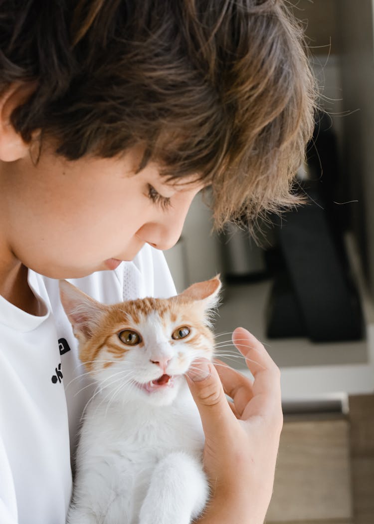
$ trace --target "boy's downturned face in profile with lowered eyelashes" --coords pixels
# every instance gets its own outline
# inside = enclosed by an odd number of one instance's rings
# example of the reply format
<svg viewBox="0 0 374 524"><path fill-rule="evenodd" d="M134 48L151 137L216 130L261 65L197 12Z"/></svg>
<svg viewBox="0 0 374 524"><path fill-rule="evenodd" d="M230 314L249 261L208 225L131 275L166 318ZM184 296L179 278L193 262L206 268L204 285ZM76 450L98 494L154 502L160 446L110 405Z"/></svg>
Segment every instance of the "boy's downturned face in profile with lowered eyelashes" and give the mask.
<svg viewBox="0 0 374 524"><path fill-rule="evenodd" d="M135 174L140 159L134 148L121 158L70 162L46 150L36 166L30 155L2 162L0 217L16 258L48 277L78 278L133 259L145 243L173 246L202 184L167 184L151 163Z"/></svg>

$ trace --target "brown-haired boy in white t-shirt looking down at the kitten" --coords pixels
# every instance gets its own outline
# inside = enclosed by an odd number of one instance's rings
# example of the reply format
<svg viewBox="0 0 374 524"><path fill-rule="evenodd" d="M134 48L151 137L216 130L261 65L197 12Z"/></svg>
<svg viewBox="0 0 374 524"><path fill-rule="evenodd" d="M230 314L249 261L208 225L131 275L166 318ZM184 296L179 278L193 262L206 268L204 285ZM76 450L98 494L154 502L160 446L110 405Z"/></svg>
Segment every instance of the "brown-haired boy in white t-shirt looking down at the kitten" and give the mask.
<svg viewBox="0 0 374 524"><path fill-rule="evenodd" d="M58 280L117 302L175 290L160 250L211 185L216 225L297 202L313 82L276 0L1 4L0 522L65 521L84 403ZM212 501L200 522L259 524L281 429L279 373L188 380ZM65 388L65 389L64 389ZM70 441L70 442L69 442Z"/></svg>

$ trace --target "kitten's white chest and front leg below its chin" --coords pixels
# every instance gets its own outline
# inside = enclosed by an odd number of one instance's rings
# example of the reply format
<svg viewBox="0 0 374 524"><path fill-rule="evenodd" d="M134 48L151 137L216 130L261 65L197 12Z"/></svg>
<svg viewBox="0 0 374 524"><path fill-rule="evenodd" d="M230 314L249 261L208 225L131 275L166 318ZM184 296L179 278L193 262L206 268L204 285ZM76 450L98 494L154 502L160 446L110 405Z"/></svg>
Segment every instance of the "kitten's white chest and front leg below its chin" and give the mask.
<svg viewBox="0 0 374 524"><path fill-rule="evenodd" d="M87 408L69 524L188 524L208 496L204 434L184 384L170 406Z"/></svg>

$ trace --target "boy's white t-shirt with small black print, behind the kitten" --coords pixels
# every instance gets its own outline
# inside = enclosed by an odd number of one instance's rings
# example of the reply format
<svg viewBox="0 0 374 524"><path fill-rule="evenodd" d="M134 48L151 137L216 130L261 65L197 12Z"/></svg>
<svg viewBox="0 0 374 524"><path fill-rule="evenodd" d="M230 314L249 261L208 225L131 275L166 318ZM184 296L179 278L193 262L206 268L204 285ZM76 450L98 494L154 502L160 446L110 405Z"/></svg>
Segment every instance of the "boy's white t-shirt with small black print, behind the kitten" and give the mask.
<svg viewBox="0 0 374 524"><path fill-rule="evenodd" d="M70 280L103 303L170 297L163 254L146 245L132 262ZM29 271L45 304L33 316L0 296L0 523L64 524L79 421L93 386L78 359L58 281Z"/></svg>

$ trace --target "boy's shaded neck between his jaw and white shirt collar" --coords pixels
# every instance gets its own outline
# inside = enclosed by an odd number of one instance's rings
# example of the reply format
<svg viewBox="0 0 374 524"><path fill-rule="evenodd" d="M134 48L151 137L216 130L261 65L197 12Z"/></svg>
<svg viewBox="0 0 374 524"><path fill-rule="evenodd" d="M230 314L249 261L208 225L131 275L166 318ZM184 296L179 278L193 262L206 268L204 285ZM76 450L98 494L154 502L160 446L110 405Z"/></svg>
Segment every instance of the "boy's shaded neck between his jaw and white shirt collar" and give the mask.
<svg viewBox="0 0 374 524"><path fill-rule="evenodd" d="M27 281L28 269L19 260L0 263L0 295L17 308L39 316L40 304Z"/></svg>

